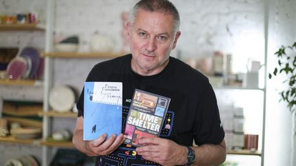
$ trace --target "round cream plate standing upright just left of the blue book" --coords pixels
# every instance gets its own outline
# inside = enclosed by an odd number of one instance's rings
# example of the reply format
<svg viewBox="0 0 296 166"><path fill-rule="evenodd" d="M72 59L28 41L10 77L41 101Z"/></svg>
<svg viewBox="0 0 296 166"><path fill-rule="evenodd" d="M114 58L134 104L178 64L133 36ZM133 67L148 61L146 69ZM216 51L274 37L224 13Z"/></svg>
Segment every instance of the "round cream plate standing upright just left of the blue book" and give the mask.
<svg viewBox="0 0 296 166"><path fill-rule="evenodd" d="M53 87L49 93L49 105L54 111L71 111L75 104L75 94L71 87L66 85Z"/></svg>

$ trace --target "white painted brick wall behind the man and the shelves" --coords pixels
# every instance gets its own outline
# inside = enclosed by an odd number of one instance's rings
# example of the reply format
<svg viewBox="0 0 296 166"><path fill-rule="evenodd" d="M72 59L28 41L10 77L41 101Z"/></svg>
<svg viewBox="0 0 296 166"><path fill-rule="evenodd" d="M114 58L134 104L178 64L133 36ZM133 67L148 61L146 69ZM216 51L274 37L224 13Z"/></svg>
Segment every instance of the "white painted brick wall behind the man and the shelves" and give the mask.
<svg viewBox="0 0 296 166"><path fill-rule="evenodd" d="M280 0L274 0L273 3L277 1ZM112 36L116 40L115 51L120 51L120 14L129 11L135 2L136 0L56 0L56 12L52 14L56 19L54 29L56 33L78 34L81 41L79 51L88 51L94 31ZM213 51L219 50L233 55L240 67L236 68L238 71L245 71L241 66L245 64L247 57L262 60L262 53L256 53L252 48L256 47L254 38L263 38L263 0L173 0L173 3L181 15L182 36L177 50L181 51L183 58L210 56ZM275 3L274 10L271 11L275 18L271 27L275 27L277 38L287 37L285 30L280 29L284 27L277 27L282 18L289 20L295 15L290 3L291 0ZM0 0L0 14L35 11L39 18L45 18L45 4L45 0ZM295 25L286 26L288 31L293 28L295 29ZM246 39L249 41L244 43ZM44 40L43 32L0 32L0 46L30 45L44 49ZM259 46L262 48L264 45L260 43ZM99 59L56 59L53 78L55 85L69 84L80 92L86 75L96 61ZM23 99L42 98L42 89L38 89L36 96L32 93L34 90L27 87L7 88L0 87L0 97L8 95ZM67 124L68 128L73 128L75 120L69 121L61 125ZM55 121L55 127L58 126ZM0 143L0 154L4 153L0 155L0 165L9 157L7 153L22 153L24 148L21 147L23 146L6 146ZM25 152L40 155L40 148L25 149Z"/></svg>

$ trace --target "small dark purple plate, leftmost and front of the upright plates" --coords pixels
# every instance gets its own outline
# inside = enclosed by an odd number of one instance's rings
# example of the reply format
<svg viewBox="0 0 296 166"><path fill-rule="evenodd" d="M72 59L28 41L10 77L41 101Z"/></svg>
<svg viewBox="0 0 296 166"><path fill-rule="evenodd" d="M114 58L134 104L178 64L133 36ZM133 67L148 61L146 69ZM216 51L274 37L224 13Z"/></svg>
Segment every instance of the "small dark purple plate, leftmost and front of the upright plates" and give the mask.
<svg viewBox="0 0 296 166"><path fill-rule="evenodd" d="M27 70L27 60L24 57L15 57L8 64L9 79L21 79Z"/></svg>

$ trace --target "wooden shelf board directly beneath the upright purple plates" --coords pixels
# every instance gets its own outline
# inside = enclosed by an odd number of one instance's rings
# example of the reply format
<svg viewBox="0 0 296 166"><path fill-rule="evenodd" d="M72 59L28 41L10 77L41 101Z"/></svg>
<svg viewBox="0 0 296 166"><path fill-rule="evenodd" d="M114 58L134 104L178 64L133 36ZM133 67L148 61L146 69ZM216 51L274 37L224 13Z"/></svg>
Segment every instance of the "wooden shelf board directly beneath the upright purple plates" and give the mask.
<svg viewBox="0 0 296 166"><path fill-rule="evenodd" d="M29 79L0 79L0 85L40 86L43 85L43 81Z"/></svg>

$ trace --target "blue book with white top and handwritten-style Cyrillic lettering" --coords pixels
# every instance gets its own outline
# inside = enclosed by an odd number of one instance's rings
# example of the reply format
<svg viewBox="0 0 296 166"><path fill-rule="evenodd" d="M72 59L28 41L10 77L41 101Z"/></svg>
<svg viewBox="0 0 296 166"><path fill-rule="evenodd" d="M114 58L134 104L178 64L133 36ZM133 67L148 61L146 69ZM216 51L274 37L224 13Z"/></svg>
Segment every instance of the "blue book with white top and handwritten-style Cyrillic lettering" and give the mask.
<svg viewBox="0 0 296 166"><path fill-rule="evenodd" d="M120 82L84 83L84 140L121 133L122 98Z"/></svg>

